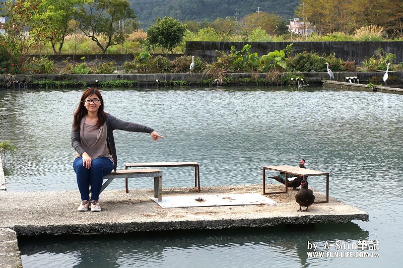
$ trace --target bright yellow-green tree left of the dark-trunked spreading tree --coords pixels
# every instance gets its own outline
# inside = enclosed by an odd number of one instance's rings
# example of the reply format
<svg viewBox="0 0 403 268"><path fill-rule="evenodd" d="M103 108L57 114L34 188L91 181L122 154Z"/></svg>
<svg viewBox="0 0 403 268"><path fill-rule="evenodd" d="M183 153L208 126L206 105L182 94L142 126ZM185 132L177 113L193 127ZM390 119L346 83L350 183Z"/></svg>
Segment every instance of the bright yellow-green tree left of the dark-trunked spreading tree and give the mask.
<svg viewBox="0 0 403 268"><path fill-rule="evenodd" d="M53 53L60 54L66 36L78 29L73 20L77 14L77 6L87 0L43 0L39 5L39 20L42 22L42 31L52 45ZM56 50L56 46L57 50Z"/></svg>

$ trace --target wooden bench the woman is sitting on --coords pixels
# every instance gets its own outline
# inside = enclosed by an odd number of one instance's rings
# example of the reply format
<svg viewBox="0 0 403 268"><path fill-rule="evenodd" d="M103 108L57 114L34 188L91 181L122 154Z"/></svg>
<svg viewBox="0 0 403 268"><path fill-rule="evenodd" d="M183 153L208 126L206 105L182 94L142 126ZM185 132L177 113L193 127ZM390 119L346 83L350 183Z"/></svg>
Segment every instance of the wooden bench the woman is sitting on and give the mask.
<svg viewBox="0 0 403 268"><path fill-rule="evenodd" d="M148 178L154 177L154 198L158 198L158 201L162 200L162 171L156 168L144 168L144 169L117 169L116 172L104 176L106 181L102 184L100 193L112 182L113 179L117 178ZM91 189L90 189L91 192ZM126 186L127 192L127 186Z"/></svg>

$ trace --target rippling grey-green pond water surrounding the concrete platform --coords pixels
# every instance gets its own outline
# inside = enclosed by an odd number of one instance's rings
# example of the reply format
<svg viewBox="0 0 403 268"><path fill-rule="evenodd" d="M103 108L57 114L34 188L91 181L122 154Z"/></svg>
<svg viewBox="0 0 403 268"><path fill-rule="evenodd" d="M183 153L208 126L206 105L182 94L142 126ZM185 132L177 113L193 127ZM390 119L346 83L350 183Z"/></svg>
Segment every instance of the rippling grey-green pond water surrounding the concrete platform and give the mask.
<svg viewBox="0 0 403 268"><path fill-rule="evenodd" d="M12 168L6 169L9 191L77 189L70 130L81 93L0 91L0 140L18 147ZM308 168L330 173L332 197L368 212L370 221L23 240L24 267L397 266L403 237L402 95L327 87L121 89L102 94L107 112L166 137L152 142L146 133L116 130L118 168L124 162L197 161L203 187L261 183L262 166L298 165L305 158ZM164 187L193 184L191 168L163 171ZM129 186L153 185L132 180ZM321 180L309 186L325 190ZM108 186L123 187L122 181ZM365 252L379 257L308 257L308 240L322 248L326 241L377 240L379 250Z"/></svg>

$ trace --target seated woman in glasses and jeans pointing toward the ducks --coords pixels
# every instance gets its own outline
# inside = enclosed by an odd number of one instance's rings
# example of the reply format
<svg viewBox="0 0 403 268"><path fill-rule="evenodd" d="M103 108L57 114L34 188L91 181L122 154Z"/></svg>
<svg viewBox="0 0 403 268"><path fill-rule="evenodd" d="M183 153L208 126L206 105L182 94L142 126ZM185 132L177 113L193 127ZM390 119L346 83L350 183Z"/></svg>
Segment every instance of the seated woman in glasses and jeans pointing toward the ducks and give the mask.
<svg viewBox="0 0 403 268"><path fill-rule="evenodd" d="M101 211L99 192L103 176L112 169L116 170L117 165L114 129L150 133L153 141L165 138L151 127L122 121L104 112L103 99L98 89L84 91L74 113L72 126L72 146L76 150L73 167L81 193L78 211L87 211L89 206L91 211Z"/></svg>

